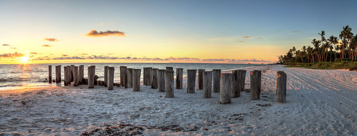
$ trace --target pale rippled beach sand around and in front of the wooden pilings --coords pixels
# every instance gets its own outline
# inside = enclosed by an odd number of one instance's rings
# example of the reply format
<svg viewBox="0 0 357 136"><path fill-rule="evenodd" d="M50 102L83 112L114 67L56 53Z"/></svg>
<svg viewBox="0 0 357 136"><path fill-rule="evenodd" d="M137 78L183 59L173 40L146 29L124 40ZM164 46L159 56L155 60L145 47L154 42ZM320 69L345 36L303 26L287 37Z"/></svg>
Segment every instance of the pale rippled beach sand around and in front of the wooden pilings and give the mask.
<svg viewBox="0 0 357 136"><path fill-rule="evenodd" d="M249 93L242 92L224 105L218 93L205 99L202 91L188 94L183 89L174 90L175 98L164 98L149 86L141 86L140 92L101 86L1 91L0 135L78 135L100 128L92 131L99 134L118 124L133 126L108 130L147 135L357 134L357 72L256 67L247 70L246 88L252 69L263 70L261 99L249 100ZM288 76L287 103L276 103L277 70Z"/></svg>

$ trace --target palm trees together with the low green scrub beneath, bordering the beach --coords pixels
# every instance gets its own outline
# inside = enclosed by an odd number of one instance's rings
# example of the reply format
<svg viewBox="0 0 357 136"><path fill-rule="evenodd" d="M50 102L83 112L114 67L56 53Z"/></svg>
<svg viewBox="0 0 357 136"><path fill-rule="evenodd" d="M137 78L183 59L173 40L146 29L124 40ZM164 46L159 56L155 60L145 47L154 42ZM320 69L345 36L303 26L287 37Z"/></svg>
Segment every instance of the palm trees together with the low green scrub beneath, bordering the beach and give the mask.
<svg viewBox="0 0 357 136"><path fill-rule="evenodd" d="M287 67L304 67L314 69L349 69L357 70L357 34L346 25L338 37L326 39L325 31L321 31L319 39L313 39L311 45L293 48L285 55L278 57L278 64Z"/></svg>

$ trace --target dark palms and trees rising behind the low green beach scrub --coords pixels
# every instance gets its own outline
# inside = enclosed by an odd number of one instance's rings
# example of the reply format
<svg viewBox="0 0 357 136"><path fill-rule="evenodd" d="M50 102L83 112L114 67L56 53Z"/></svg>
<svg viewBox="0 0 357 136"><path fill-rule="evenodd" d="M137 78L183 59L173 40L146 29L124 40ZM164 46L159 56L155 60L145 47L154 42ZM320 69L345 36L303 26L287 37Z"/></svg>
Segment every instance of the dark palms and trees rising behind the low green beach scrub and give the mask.
<svg viewBox="0 0 357 136"><path fill-rule="evenodd" d="M311 46L302 46L301 49L293 47L285 55L278 57L279 63L320 63L350 61L357 59L357 34L353 35L352 29L343 26L339 37L325 38L325 31L318 33L321 40L313 39Z"/></svg>

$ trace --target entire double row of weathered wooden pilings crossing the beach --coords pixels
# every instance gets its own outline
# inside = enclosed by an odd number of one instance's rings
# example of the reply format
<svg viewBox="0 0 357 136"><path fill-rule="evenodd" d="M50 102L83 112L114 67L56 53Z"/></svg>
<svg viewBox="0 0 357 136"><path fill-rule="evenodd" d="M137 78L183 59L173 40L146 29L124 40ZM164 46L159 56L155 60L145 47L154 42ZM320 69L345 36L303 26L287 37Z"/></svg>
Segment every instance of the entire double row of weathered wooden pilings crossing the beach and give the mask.
<svg viewBox="0 0 357 136"><path fill-rule="evenodd" d="M49 83L52 79L52 66L48 66ZM196 69L187 70L187 93L195 93ZM286 102L286 73L276 72L276 96L277 102ZM261 76L260 70L249 71L250 74L250 99L260 99ZM64 67L64 86L72 83L73 86L81 84L94 88L94 85L103 85L108 90L113 90L113 86L123 86L133 88L133 91L140 91L141 69L127 68L120 66L120 84L114 83L114 67L105 66L104 81L100 81L95 75L95 66L88 67L88 78L84 78L84 65ZM246 70L233 70L232 73L221 73L220 69L205 71L198 69L198 90L203 90L203 98L211 98L211 92L219 92L219 102L221 104L231 103L231 98L240 97L241 91L245 90ZM173 68L157 69L143 68L143 85L165 92L166 98L174 97L173 93ZM61 83L61 65L56 66L56 83ZM183 68L176 68L176 89L183 89Z"/></svg>

